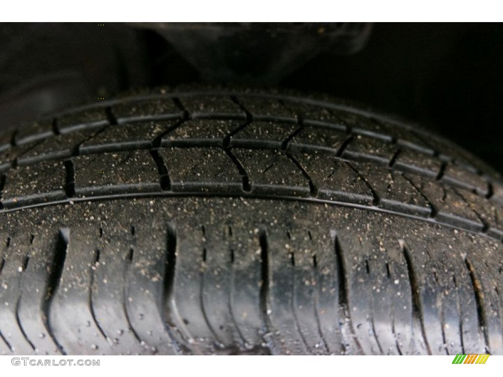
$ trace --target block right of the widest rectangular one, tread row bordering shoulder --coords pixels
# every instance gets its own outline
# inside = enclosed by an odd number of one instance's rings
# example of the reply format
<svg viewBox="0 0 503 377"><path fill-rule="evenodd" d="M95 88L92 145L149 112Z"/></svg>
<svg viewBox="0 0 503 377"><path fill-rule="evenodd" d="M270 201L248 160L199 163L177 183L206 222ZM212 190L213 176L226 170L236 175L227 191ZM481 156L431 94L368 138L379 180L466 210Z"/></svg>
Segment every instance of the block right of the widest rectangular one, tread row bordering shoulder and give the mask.
<svg viewBox="0 0 503 377"><path fill-rule="evenodd" d="M159 154L166 164L173 191L240 192L239 171L219 148L166 148Z"/></svg>

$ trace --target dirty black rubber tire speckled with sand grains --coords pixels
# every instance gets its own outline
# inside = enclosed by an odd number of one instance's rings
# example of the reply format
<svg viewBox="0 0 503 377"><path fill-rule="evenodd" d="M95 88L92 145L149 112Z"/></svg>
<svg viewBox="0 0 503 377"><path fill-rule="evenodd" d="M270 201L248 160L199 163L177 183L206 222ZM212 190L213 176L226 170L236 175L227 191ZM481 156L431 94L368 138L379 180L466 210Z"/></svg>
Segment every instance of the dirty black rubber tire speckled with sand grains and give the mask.
<svg viewBox="0 0 503 377"><path fill-rule="evenodd" d="M503 186L413 125L161 90L0 172L0 353L503 354Z"/></svg>

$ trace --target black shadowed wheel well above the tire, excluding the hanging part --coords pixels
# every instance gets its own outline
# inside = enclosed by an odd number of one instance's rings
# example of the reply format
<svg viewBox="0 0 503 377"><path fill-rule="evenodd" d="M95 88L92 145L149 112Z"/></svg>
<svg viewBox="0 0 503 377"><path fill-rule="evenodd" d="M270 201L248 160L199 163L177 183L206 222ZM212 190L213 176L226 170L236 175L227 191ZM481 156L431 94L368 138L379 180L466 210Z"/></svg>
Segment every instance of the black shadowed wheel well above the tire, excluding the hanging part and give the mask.
<svg viewBox="0 0 503 377"><path fill-rule="evenodd" d="M161 34L135 24L0 24L0 128L133 88L273 86L423 123L503 173L501 24L374 24L359 52L320 49L276 80L243 75L239 82L202 75ZM239 43L267 50L268 39L257 35ZM211 48L233 53L226 43ZM264 55L254 56L257 65Z"/></svg>

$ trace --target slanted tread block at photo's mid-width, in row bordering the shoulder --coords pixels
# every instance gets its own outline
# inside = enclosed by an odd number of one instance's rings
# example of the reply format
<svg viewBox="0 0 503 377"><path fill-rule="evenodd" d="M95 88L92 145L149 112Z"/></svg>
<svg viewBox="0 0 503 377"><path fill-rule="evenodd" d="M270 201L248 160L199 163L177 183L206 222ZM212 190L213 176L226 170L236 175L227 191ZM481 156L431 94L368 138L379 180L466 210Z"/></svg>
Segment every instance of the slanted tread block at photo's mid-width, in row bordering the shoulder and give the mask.
<svg viewBox="0 0 503 377"><path fill-rule="evenodd" d="M269 150L233 149L248 174L253 193L309 195L302 171L284 154Z"/></svg>

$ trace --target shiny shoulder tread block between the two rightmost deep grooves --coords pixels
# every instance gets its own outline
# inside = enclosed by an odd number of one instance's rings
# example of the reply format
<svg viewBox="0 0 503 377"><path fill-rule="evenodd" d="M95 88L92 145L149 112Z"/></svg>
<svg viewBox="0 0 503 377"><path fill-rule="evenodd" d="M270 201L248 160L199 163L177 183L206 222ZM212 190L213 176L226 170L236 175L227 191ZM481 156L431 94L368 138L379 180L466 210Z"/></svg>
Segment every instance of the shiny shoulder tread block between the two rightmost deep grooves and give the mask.
<svg viewBox="0 0 503 377"><path fill-rule="evenodd" d="M463 260L463 255L476 249L453 248L456 240L468 237L456 232L439 228L425 234L421 242L406 239L422 287L424 331L433 354L459 350L457 344L463 344L466 353L483 352L475 296Z"/></svg>

